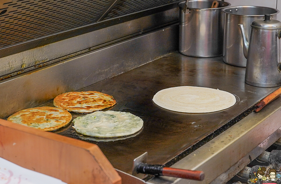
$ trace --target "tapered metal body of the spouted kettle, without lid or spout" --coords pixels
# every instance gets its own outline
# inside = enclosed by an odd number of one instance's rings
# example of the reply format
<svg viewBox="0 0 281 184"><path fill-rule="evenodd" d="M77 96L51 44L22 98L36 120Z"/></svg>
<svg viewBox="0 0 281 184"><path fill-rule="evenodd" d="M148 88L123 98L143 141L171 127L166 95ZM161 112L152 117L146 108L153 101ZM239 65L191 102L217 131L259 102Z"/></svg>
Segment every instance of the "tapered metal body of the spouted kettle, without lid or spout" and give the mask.
<svg viewBox="0 0 281 184"><path fill-rule="evenodd" d="M281 29L251 28L245 82L258 87L281 85L280 39Z"/></svg>

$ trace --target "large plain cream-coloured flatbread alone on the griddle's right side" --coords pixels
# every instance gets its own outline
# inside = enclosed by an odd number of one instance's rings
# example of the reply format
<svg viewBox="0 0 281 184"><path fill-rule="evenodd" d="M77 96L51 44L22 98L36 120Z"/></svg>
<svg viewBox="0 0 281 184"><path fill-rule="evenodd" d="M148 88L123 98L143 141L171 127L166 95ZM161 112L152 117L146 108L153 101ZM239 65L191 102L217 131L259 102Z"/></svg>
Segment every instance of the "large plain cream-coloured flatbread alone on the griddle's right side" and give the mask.
<svg viewBox="0 0 281 184"><path fill-rule="evenodd" d="M153 97L153 102L176 112L216 112L233 106L233 94L207 87L180 86L163 89Z"/></svg>

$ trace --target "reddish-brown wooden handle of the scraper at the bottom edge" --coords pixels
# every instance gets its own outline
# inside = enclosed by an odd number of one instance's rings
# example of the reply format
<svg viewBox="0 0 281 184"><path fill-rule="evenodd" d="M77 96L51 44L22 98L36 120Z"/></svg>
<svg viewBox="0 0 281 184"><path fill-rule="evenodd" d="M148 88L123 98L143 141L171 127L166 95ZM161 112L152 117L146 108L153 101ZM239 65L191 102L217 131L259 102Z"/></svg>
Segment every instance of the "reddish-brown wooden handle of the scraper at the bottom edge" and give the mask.
<svg viewBox="0 0 281 184"><path fill-rule="evenodd" d="M192 171L187 169L176 169L171 167L163 167L162 175L198 181L202 181L205 177L203 171Z"/></svg>

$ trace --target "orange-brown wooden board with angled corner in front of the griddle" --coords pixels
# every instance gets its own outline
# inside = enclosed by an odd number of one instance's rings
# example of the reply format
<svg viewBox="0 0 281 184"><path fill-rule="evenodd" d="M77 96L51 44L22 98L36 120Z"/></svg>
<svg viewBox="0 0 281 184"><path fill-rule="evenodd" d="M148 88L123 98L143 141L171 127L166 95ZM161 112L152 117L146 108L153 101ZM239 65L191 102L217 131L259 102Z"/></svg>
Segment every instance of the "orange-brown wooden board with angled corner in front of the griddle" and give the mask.
<svg viewBox="0 0 281 184"><path fill-rule="evenodd" d="M68 184L121 184L97 145L2 119L0 157Z"/></svg>

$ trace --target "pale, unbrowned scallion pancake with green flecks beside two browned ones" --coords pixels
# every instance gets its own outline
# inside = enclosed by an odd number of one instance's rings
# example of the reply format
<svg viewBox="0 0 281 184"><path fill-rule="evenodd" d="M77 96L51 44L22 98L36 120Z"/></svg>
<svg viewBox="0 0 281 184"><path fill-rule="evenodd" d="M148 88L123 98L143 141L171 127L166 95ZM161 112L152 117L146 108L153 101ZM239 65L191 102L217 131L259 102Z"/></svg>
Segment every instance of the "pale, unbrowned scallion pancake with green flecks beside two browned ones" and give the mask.
<svg viewBox="0 0 281 184"><path fill-rule="evenodd" d="M93 137L121 137L141 130L143 121L129 112L97 111L73 120L76 132Z"/></svg>

